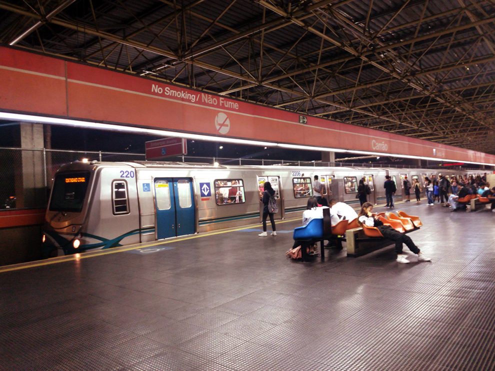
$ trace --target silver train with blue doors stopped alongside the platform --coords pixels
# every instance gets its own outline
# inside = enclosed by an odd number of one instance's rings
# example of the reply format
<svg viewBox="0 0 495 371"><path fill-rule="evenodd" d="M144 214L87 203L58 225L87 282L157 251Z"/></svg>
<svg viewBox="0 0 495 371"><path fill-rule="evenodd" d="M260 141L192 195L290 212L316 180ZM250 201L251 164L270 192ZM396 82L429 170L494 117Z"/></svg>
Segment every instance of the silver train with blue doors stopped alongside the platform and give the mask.
<svg viewBox="0 0 495 371"><path fill-rule="evenodd" d="M361 178L368 201L385 198L390 175L401 199L402 179L438 174L425 169L218 166L175 162L72 162L56 172L43 226L43 256L74 254L224 229L261 221L263 183L275 190L275 219L298 217L318 175L322 196L358 207ZM445 174L444 172L444 175ZM460 172L448 171L448 176Z"/></svg>

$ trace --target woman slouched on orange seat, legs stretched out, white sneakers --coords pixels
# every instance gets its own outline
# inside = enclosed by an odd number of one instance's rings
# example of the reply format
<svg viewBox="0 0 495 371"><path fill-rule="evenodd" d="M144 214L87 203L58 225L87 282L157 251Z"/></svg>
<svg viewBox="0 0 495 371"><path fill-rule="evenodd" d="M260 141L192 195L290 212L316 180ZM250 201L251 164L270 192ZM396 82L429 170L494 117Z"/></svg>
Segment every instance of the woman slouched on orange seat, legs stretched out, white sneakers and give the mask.
<svg viewBox="0 0 495 371"><path fill-rule="evenodd" d="M405 234L397 232L392 227L383 225L383 223L378 219L378 217L373 217L373 204L365 202L361 206L361 210L357 215L357 220L360 225L366 225L367 227L376 227L381 232L384 238L392 240L395 242L395 252L397 253L397 262L399 263L410 263L407 260L407 255L402 254L402 244L406 244L410 251L417 255L417 260L422 260L429 262L431 258L428 258L421 254L419 249L411 238Z"/></svg>

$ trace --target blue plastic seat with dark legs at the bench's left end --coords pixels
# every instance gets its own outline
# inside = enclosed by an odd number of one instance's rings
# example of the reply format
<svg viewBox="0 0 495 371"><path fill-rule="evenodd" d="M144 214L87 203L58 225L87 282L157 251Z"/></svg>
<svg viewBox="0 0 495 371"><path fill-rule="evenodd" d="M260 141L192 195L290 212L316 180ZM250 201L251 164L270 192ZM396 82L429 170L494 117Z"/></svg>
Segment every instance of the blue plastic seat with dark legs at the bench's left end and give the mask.
<svg viewBox="0 0 495 371"><path fill-rule="evenodd" d="M313 219L303 227L294 228L292 238L301 242L301 261L307 260L306 249L318 241L320 243L321 260L324 261L324 240L331 238L330 210L323 209L323 219Z"/></svg>

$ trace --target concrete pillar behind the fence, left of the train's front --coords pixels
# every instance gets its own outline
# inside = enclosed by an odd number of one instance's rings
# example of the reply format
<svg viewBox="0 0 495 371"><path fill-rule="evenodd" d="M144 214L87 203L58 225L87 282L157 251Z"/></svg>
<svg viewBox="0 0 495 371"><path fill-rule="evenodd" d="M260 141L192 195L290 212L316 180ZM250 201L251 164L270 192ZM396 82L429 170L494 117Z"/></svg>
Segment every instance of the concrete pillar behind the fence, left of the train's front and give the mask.
<svg viewBox="0 0 495 371"><path fill-rule="evenodd" d="M43 125L20 123L20 147L43 148ZM21 166L15 174L15 206L20 208L44 207L46 203L43 152L21 151Z"/></svg>

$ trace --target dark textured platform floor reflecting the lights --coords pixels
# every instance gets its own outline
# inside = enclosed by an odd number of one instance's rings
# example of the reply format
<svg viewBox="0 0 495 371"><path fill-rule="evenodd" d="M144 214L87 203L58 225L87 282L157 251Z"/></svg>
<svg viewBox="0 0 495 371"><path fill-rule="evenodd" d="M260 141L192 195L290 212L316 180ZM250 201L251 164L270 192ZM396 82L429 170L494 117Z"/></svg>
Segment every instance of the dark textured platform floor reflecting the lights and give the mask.
<svg viewBox="0 0 495 371"><path fill-rule="evenodd" d="M292 221L2 272L0 369L494 370L495 213L395 209L432 262L294 262Z"/></svg>

